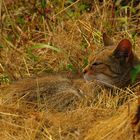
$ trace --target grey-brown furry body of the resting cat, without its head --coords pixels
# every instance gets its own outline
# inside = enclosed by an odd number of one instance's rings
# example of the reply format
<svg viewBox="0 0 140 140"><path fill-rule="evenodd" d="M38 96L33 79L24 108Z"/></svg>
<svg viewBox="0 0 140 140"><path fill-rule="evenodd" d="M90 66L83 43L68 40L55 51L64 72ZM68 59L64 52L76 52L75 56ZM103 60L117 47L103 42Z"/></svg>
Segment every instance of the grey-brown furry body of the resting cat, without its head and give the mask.
<svg viewBox="0 0 140 140"><path fill-rule="evenodd" d="M76 108L84 98L79 90L84 82L81 78L68 78L66 74L47 74L14 82L0 89L0 93L6 105L67 111Z"/></svg>

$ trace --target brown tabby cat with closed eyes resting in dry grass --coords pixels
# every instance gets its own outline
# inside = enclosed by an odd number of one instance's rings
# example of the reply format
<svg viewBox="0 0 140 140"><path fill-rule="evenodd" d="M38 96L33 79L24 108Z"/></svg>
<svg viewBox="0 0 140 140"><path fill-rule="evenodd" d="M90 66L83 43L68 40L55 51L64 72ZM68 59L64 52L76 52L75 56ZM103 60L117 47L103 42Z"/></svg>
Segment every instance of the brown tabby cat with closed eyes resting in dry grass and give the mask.
<svg viewBox="0 0 140 140"><path fill-rule="evenodd" d="M131 85L131 71L140 64L132 50L132 43L128 39L122 39L115 46L105 33L103 42L104 48L91 55L88 65L83 69L85 80L70 79L62 74L23 79L4 90L0 89L3 97L1 102L13 106L18 104L23 108L32 107L35 110L67 111L75 109L84 100L87 92L81 91L81 87L85 85L85 81L95 80L109 88ZM137 124L139 120L140 102L132 123Z"/></svg>

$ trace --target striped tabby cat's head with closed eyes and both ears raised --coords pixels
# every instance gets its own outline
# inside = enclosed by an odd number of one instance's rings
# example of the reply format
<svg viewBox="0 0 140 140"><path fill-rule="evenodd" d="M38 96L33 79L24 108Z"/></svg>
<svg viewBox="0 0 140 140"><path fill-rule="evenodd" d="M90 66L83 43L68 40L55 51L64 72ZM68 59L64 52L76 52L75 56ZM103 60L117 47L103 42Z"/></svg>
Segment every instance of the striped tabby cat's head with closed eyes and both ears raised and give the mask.
<svg viewBox="0 0 140 140"><path fill-rule="evenodd" d="M83 69L84 79L123 87L130 82L134 59L132 44L128 39L122 39L115 46L106 34L103 34L103 42L104 49L91 56Z"/></svg>

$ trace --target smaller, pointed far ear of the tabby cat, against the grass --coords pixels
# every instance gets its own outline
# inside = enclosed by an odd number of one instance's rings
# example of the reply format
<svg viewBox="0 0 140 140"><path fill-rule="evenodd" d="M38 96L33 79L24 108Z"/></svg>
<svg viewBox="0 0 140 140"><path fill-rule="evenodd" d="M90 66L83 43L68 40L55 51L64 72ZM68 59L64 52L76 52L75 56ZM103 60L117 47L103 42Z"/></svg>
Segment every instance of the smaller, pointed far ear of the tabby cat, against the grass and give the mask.
<svg viewBox="0 0 140 140"><path fill-rule="evenodd" d="M113 40L106 33L103 33L103 43L104 47L110 47L114 45Z"/></svg>

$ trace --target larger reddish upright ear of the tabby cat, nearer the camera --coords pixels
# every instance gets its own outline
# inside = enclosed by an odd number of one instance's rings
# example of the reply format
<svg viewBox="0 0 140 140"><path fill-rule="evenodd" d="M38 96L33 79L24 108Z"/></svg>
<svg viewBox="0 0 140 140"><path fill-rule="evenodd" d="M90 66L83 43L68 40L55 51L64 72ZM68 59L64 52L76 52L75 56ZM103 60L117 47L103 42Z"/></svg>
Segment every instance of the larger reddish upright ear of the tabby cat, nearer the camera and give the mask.
<svg viewBox="0 0 140 140"><path fill-rule="evenodd" d="M128 39L123 39L113 52L113 55L120 61L121 64L132 62L133 52L132 44Z"/></svg>

